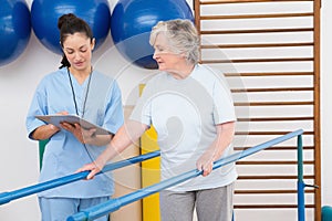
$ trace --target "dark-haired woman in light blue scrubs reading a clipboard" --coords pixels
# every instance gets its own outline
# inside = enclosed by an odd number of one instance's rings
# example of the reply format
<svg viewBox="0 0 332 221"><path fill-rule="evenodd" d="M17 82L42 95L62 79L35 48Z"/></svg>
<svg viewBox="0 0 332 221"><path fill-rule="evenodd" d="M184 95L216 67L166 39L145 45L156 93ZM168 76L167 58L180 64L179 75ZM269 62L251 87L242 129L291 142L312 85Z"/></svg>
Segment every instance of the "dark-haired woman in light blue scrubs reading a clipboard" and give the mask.
<svg viewBox="0 0 332 221"><path fill-rule="evenodd" d="M91 64L95 39L89 24L69 13L59 18L61 67L45 75L38 85L28 116L27 129L33 140L49 139L40 182L73 173L82 164L95 159L123 125L121 91L117 83ZM101 126L110 135L95 135L80 124L45 124L35 115L74 114ZM43 221L63 221L73 213L102 203L114 192L110 175L77 181L39 193ZM108 215L97 219L108 220Z"/></svg>

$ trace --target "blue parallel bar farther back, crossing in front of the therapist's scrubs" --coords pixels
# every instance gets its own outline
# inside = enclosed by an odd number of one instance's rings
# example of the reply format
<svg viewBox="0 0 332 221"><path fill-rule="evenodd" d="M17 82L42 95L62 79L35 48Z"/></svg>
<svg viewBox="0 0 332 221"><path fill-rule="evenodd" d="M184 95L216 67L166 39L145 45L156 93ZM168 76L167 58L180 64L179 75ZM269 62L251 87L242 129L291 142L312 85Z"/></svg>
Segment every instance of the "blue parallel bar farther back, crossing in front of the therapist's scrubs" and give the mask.
<svg viewBox="0 0 332 221"><path fill-rule="evenodd" d="M107 171L115 170L115 169L118 169L122 167L126 167L126 166L129 166L129 165L133 165L136 162L141 162L144 160L154 158L154 157L158 157L159 155L160 155L160 151L157 150L157 151L148 152L145 155L139 155L139 156L136 156L136 157L133 157L129 159L125 159L122 161L117 161L114 164L110 164L110 165L106 165L104 167L104 169L101 172L98 172L98 175L102 172L107 172ZM85 179L86 176L89 175L89 172L90 171L77 172L77 173L69 175L69 176L61 177L58 179L41 182L41 183L34 185L34 186L25 187L25 188L22 188L19 190L14 190L14 191L10 191L10 192L2 192L2 193L0 193L0 206L8 203L11 200L15 200L15 199L19 199L22 197L27 197L27 196L37 193L37 192L41 192L41 191L44 191L48 189L52 189L55 187L68 185L70 182Z"/></svg>

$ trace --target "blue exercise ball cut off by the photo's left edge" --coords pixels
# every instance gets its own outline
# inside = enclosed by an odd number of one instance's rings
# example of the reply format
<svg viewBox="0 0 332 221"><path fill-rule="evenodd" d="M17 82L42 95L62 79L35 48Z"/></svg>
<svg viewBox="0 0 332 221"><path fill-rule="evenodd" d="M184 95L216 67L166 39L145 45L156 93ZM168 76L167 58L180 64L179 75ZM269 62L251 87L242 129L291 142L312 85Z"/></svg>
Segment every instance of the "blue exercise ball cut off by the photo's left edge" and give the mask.
<svg viewBox="0 0 332 221"><path fill-rule="evenodd" d="M31 35L30 10L24 0L0 0L0 65L18 59Z"/></svg>

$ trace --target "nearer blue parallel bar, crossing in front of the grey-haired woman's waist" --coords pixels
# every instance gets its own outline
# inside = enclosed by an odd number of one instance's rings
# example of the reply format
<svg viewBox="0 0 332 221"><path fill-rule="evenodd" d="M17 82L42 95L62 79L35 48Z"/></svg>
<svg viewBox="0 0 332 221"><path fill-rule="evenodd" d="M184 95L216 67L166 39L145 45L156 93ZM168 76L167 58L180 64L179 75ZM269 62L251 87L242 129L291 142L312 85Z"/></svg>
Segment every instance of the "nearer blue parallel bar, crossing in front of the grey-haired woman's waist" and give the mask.
<svg viewBox="0 0 332 221"><path fill-rule="evenodd" d="M288 140L290 138L299 136L302 133L303 133L303 130L299 129L299 130L289 133L287 135L283 135L281 137L271 139L271 140L267 141L267 143L263 143L261 145L251 147L251 148L246 149L243 151L240 151L240 152L230 155L226 158L219 159L219 160L215 161L212 169L215 170L215 169L217 169L219 167L222 167L227 164L234 162L234 161L239 160L241 158L245 158L249 155L258 152L262 149L266 149L266 148L271 147L273 145L280 144L284 140ZM83 210L81 212L77 212L77 213L69 217L68 221L82 221L82 220L87 221L87 220L97 219L100 217L108 214L110 212L118 210L123 206L126 206L126 204L132 203L134 201L137 201L142 198L154 194L154 193L156 193L156 192L158 192L163 189L166 189L168 187L178 185L178 183L184 182L188 179L200 176L201 173L203 173L203 171L199 171L197 169L190 170L188 172L181 173L179 176L173 177L173 178L167 179L167 180L163 180L163 181L160 181L156 185L152 185L149 187L143 188L143 189L137 190L135 192L125 194L125 196L120 197L120 198L111 199L111 200L108 200L104 203L97 204L95 207L87 208L86 210Z"/></svg>

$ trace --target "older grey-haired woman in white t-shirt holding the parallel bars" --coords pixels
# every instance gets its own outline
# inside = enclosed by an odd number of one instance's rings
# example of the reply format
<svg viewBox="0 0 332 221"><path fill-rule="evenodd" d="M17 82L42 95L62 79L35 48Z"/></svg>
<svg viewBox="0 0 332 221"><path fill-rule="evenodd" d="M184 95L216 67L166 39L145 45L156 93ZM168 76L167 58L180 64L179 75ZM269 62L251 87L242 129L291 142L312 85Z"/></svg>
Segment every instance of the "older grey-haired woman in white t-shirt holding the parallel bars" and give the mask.
<svg viewBox="0 0 332 221"><path fill-rule="evenodd" d="M158 135L162 179L197 168L203 176L160 192L163 221L230 221L235 164L212 171L214 161L232 152L236 115L222 76L198 64L199 36L189 20L158 22L149 43L160 73L149 80L129 119L103 154L79 171L92 179L104 165L152 125Z"/></svg>

